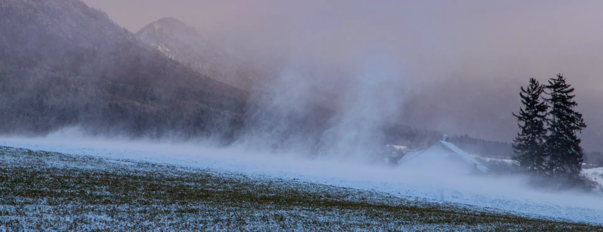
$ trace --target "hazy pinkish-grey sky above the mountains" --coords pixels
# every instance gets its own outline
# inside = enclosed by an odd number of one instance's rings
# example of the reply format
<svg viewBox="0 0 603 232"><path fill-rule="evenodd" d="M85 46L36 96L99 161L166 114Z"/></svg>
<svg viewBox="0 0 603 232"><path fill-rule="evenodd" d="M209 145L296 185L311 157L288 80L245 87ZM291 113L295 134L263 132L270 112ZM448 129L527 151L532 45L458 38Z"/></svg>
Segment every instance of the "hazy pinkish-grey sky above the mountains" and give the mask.
<svg viewBox="0 0 603 232"><path fill-rule="evenodd" d="M507 88L501 93L507 96L530 77L545 81L563 73L577 89L589 130L603 133L603 1L83 1L133 32L175 17L252 53L294 54L346 68L378 57L406 80L479 78L476 83ZM519 99L505 102L511 103L489 113L507 117L519 109ZM504 128L513 127L508 118ZM515 129L502 136L496 130L482 135L510 140Z"/></svg>

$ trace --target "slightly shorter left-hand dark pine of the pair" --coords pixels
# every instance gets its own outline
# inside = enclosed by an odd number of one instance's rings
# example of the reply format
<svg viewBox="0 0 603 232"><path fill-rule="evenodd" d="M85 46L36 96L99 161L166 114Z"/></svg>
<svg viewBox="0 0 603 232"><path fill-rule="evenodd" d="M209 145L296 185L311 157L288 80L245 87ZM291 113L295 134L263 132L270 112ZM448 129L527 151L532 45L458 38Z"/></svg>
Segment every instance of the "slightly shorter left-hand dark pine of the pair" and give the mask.
<svg viewBox="0 0 603 232"><path fill-rule="evenodd" d="M540 174L545 171L543 145L547 133L545 122L548 105L541 99L544 92L545 86L530 78L529 85L526 89L522 86L519 93L523 108L519 110L519 115L513 113L521 130L513 139L516 154L513 160L516 160L524 171Z"/></svg>

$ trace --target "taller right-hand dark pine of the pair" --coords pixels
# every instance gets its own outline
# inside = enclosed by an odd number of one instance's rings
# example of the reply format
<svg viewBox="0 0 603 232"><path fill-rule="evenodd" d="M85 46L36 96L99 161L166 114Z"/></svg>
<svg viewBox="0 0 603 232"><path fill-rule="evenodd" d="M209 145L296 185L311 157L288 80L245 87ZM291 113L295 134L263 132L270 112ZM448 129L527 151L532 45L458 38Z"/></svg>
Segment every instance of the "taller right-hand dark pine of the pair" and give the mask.
<svg viewBox="0 0 603 232"><path fill-rule="evenodd" d="M546 154L548 155L547 171L552 177L566 180L578 180L582 170L581 139L576 132L586 128L582 114L573 110L578 105L572 95L574 89L566 83L563 75L549 79L548 89L550 98L546 101L551 105Z"/></svg>

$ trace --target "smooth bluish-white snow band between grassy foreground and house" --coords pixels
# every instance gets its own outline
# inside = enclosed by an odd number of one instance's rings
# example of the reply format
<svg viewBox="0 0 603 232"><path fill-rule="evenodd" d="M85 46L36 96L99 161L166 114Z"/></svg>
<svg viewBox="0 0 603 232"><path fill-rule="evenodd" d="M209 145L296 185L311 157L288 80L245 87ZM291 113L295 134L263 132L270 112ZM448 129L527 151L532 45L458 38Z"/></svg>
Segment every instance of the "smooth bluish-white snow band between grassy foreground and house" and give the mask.
<svg viewBox="0 0 603 232"><path fill-rule="evenodd" d="M127 158L235 172L251 177L295 180L391 193L407 199L474 205L534 218L555 218L603 225L603 197L583 193L526 190L525 180L450 177L438 170L367 166L352 161L307 160L295 154L263 154L242 149L213 149L184 143L89 140L55 136L0 139L0 146L40 151ZM603 173L603 172L601 172ZM594 175L594 174L593 174Z"/></svg>

